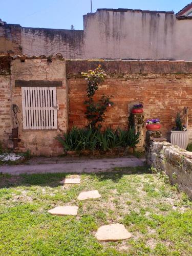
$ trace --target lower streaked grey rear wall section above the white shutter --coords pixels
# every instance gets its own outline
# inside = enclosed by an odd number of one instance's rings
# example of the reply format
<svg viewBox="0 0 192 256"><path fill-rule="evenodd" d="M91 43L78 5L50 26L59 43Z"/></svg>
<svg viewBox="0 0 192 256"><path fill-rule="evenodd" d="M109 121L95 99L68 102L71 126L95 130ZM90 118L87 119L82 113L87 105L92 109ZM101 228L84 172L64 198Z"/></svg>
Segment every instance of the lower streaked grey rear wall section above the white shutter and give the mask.
<svg viewBox="0 0 192 256"><path fill-rule="evenodd" d="M23 54L46 56L61 53L65 58L83 56L83 31L22 28Z"/></svg>

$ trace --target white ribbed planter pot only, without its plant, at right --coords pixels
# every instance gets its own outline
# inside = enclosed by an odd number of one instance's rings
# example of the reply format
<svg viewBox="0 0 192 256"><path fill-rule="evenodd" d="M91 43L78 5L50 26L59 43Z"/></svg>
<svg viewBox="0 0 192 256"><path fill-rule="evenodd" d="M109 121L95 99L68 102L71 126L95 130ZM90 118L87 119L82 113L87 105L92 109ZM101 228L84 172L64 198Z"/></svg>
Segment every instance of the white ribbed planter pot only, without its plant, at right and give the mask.
<svg viewBox="0 0 192 256"><path fill-rule="evenodd" d="M188 131L172 131L172 134L170 135L170 143L172 143L173 145L178 145L179 147L184 148L184 150L186 150L188 142Z"/></svg>

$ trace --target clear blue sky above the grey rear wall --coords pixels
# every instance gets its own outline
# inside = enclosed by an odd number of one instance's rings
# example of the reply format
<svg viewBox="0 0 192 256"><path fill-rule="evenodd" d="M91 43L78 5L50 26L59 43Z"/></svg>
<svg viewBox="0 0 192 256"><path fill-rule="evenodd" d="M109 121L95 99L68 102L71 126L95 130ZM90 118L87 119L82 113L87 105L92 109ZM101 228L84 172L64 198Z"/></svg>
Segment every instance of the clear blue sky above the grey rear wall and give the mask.
<svg viewBox="0 0 192 256"><path fill-rule="evenodd" d="M90 12L91 0L0 0L0 18L23 27L83 29L82 15ZM128 8L177 13L190 0L92 0L97 8Z"/></svg>

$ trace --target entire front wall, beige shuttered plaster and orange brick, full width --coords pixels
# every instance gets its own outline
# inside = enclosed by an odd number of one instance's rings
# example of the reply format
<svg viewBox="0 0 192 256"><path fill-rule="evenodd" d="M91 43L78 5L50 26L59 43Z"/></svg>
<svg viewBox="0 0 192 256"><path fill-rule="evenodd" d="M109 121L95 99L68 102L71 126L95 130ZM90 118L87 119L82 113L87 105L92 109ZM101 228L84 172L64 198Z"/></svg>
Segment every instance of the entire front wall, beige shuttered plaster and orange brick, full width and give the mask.
<svg viewBox="0 0 192 256"><path fill-rule="evenodd" d="M86 81L81 72L101 64L108 78L99 87L96 98L102 94L113 95L115 106L108 108L103 126L127 127L129 104L141 102L147 118L159 117L162 132L168 132L174 125L177 112L184 106L190 109L189 125L192 129L192 62L174 61L94 61L63 60L53 58L27 58L25 62L11 57L0 57L0 141L9 146L12 129L12 104L17 104L21 113L20 146L29 148L34 155L56 156L62 153L61 145L55 140L57 134L66 132L73 125L83 127L83 101L86 99ZM11 66L11 68L10 68ZM57 88L59 110L57 131L27 131L22 124L21 88L15 87L15 80L60 80ZM69 125L68 125L69 124ZM69 126L69 127L68 127Z"/></svg>

